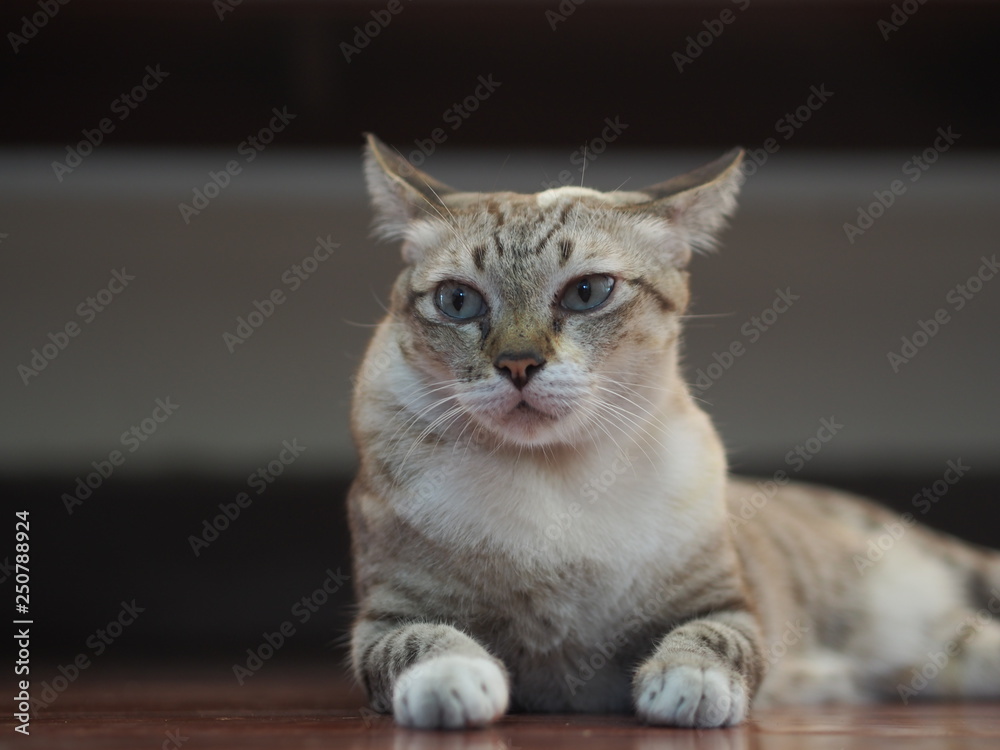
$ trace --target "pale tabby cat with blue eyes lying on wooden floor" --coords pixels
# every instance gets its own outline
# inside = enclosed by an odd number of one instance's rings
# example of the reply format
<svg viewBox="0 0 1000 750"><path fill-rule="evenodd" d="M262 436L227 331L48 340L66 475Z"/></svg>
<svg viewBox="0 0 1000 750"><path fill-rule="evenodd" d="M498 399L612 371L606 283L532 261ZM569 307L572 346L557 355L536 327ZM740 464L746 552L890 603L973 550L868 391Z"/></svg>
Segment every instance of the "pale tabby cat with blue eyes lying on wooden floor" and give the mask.
<svg viewBox="0 0 1000 750"><path fill-rule="evenodd" d="M805 484L733 523L757 488L678 357L687 267L741 159L636 191L468 193L368 137L405 261L352 409L351 663L376 710L710 728L751 703L1000 694L1000 554Z"/></svg>

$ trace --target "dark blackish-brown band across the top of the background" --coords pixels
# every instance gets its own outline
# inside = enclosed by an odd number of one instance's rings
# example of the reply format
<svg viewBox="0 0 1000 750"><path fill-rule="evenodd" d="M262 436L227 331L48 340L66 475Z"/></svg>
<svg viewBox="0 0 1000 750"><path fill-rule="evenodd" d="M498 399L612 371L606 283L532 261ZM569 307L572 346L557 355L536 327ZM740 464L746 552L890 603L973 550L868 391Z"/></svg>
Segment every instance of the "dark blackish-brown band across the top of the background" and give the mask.
<svg viewBox="0 0 1000 750"><path fill-rule="evenodd" d="M229 145L279 101L302 116L283 147L354 148L369 130L406 143L439 127L441 102L487 71L516 101L469 118L453 147L564 148L593 137L608 112L635 122L635 147L716 148L734 133L758 143L773 135L771 113L817 82L849 101L804 130L799 148L923 147L942 112L965 124L972 147L998 142L992 3L917 4L884 39L877 23L899 3L566 0L576 10L553 29L545 13L558 2L399 1L350 62L341 44L384 4L245 0L222 21L207 1L60 6L16 56L5 49L0 137L72 142L107 114L107 92L156 60L175 79L120 128L118 145ZM5 3L5 32L33 7ZM724 10L732 23L679 74L673 55Z"/></svg>

